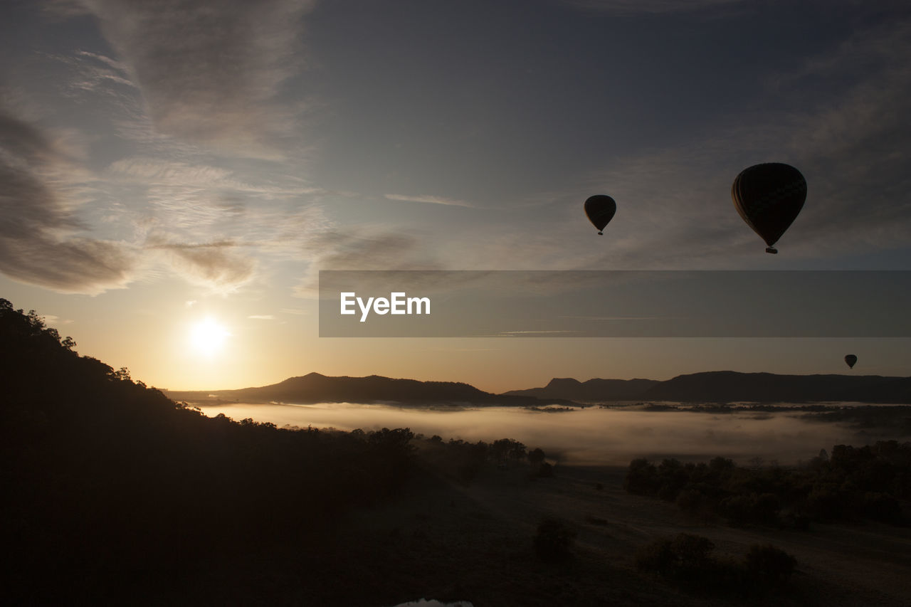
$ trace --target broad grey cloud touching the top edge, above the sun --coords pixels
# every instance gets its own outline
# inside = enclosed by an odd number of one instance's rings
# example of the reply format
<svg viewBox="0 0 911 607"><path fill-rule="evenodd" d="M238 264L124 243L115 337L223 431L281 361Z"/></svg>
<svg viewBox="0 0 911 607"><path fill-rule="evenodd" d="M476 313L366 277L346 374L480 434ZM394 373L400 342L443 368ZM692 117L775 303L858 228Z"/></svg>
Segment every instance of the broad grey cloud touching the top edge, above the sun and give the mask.
<svg viewBox="0 0 911 607"><path fill-rule="evenodd" d="M161 133L279 158L298 108L277 102L303 67L308 0L84 0L142 91Z"/></svg>

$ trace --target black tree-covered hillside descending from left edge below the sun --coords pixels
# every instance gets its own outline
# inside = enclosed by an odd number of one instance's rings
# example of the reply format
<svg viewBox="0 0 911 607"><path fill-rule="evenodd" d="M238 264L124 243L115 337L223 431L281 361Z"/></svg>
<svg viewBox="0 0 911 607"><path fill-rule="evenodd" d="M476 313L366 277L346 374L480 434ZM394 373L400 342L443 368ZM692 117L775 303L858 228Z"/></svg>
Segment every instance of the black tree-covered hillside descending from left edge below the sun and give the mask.
<svg viewBox="0 0 911 607"><path fill-rule="evenodd" d="M202 604L185 593L213 576L307 587L319 574L302 563L343 513L413 469L407 428L204 417L73 346L0 299L6 604ZM268 592L251 596L290 604Z"/></svg>

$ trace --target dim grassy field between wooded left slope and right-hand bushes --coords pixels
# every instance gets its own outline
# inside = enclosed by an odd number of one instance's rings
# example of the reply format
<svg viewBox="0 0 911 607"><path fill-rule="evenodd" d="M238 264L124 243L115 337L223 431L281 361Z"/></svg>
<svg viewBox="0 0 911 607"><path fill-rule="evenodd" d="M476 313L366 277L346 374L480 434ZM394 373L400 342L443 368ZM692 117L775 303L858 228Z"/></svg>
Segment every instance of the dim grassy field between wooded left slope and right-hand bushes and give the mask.
<svg viewBox="0 0 911 607"><path fill-rule="evenodd" d="M476 607L911 603L907 528L733 529L626 493L625 471L558 466L554 477L532 479L519 464L486 469L469 486L422 478L406 498L358 512L338 531L334 564L360 581L361 592L338 589L325 599L379 606L426 597ZM546 517L576 532L568 561L537 558L533 538ZM681 532L709 538L722 559L742 560L752 544L772 543L793 554L797 571L780 591L752 596L683 592L637 571L640 547Z"/></svg>

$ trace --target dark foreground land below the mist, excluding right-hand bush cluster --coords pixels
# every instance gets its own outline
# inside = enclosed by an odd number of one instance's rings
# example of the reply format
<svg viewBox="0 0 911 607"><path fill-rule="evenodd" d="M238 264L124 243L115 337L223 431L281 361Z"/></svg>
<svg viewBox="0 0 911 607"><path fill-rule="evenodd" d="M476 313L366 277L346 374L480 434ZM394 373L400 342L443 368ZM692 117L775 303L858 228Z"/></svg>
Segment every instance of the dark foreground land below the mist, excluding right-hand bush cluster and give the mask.
<svg viewBox="0 0 911 607"><path fill-rule="evenodd" d="M509 439L204 417L74 346L0 300L4 604L911 602L901 524L732 528ZM767 544L793 572L743 564Z"/></svg>

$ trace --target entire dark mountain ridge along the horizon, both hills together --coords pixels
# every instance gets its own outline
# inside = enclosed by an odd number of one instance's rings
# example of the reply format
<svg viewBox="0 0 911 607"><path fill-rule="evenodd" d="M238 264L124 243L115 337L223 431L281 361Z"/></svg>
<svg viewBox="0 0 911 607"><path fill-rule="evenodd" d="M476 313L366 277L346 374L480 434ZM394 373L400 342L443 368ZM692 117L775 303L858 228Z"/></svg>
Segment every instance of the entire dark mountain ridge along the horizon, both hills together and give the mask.
<svg viewBox="0 0 911 607"><path fill-rule="evenodd" d="M192 402L386 403L403 405L579 406L616 401L676 402L860 402L911 404L911 377L783 375L705 371L667 380L602 379L584 382L554 377L547 386L485 392L464 382L420 381L385 376L323 376L309 373L269 386L166 393Z"/></svg>

